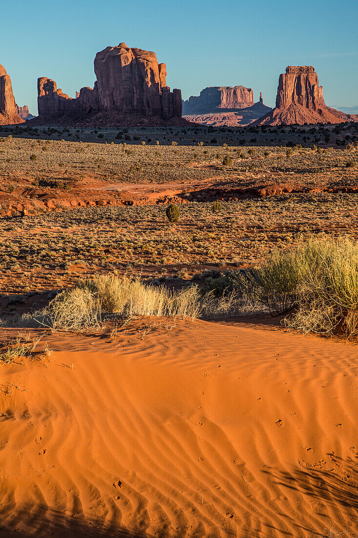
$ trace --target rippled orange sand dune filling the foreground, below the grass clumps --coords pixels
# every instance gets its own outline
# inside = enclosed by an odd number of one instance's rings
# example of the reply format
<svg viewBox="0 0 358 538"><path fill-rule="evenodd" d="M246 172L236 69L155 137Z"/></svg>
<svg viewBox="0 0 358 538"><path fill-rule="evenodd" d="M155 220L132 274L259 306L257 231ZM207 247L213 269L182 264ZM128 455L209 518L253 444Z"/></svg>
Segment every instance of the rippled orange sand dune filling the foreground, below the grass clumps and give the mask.
<svg viewBox="0 0 358 538"><path fill-rule="evenodd" d="M1 366L0 535L355 535L355 345L264 318L32 332L52 355Z"/></svg>

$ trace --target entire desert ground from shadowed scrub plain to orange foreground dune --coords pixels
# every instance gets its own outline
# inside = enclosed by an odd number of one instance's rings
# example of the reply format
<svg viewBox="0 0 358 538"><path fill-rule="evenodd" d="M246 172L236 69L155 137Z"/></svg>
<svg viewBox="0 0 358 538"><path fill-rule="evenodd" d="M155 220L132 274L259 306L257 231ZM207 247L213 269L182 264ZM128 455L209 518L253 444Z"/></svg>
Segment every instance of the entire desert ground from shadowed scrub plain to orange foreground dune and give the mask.
<svg viewBox="0 0 358 538"><path fill-rule="evenodd" d="M0 128L0 535L358 533L356 337L233 295L272 251L356 242L357 134ZM38 314L98 275L209 299Z"/></svg>

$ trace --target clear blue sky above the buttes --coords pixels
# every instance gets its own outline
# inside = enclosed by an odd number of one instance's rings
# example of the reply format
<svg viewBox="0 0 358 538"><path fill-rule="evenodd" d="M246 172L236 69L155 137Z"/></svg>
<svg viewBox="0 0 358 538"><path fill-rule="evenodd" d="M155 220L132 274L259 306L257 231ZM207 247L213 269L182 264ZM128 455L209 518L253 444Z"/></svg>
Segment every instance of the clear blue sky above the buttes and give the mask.
<svg viewBox="0 0 358 538"><path fill-rule="evenodd" d="M96 52L154 51L182 96L242 84L274 106L278 75L313 65L326 104L358 105L358 0L0 0L0 63L37 114L37 79L93 87Z"/></svg>

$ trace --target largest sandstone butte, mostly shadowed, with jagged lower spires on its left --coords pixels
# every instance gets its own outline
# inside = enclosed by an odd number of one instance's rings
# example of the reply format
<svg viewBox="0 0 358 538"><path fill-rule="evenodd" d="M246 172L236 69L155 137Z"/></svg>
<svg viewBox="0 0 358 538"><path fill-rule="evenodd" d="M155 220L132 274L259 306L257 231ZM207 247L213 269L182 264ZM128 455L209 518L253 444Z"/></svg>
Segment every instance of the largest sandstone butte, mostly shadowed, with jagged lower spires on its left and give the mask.
<svg viewBox="0 0 358 538"><path fill-rule="evenodd" d="M98 52L94 66L94 88L81 88L74 99L58 89L52 79L40 77L39 119L62 117L68 123L97 125L181 119L181 90L170 91L166 64L158 63L154 52L120 43Z"/></svg>

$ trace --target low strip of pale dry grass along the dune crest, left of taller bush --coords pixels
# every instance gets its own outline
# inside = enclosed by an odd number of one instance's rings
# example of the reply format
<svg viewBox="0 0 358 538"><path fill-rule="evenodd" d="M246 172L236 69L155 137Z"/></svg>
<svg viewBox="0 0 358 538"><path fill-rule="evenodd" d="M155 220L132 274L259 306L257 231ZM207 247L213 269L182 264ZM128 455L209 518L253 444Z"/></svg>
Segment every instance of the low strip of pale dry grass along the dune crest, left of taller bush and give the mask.
<svg viewBox="0 0 358 538"><path fill-rule="evenodd" d="M215 296L204 293L196 285L172 291L164 286L143 284L138 278L98 275L93 280L67 289L33 314L9 320L11 325L51 327L54 330L76 331L96 327L111 314L122 318L134 316L169 316L182 319L199 316L230 317L257 312L253 293L233 290Z"/></svg>

